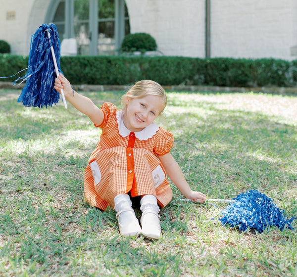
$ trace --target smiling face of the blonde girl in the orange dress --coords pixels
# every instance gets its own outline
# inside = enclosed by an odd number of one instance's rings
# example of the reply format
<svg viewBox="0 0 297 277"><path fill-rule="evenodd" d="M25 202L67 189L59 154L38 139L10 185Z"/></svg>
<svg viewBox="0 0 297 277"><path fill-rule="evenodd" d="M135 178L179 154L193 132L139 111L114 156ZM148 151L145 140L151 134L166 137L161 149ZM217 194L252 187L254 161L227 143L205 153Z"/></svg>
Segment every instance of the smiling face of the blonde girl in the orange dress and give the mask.
<svg viewBox="0 0 297 277"><path fill-rule="evenodd" d="M125 104L123 122L131 132L140 132L148 127L164 109L162 97L156 95L147 95L143 98L127 96Z"/></svg>

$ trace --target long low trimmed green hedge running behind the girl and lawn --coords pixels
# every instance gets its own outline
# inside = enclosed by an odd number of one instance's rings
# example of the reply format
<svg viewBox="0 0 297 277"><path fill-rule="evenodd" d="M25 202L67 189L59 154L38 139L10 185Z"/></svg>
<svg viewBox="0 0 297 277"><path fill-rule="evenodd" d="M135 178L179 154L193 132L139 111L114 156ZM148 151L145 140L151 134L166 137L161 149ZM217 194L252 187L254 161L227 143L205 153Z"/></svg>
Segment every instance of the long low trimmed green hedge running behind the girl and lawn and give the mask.
<svg viewBox="0 0 297 277"><path fill-rule="evenodd" d="M170 56L63 56L72 84L127 85L151 79L163 86L296 87L297 60L190 58ZM28 66L28 57L0 54L0 76ZM18 74L24 76L26 71ZM1 81L14 81L18 76Z"/></svg>

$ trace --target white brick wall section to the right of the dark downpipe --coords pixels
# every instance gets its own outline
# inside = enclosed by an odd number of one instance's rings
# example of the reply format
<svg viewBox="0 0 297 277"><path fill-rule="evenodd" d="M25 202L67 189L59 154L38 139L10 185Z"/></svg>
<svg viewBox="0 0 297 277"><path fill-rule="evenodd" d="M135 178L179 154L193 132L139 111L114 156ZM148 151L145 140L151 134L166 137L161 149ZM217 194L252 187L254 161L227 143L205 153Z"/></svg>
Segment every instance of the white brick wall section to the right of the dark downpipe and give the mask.
<svg viewBox="0 0 297 277"><path fill-rule="evenodd" d="M290 58L292 0L212 0L211 55ZM295 36L296 37L296 36Z"/></svg>

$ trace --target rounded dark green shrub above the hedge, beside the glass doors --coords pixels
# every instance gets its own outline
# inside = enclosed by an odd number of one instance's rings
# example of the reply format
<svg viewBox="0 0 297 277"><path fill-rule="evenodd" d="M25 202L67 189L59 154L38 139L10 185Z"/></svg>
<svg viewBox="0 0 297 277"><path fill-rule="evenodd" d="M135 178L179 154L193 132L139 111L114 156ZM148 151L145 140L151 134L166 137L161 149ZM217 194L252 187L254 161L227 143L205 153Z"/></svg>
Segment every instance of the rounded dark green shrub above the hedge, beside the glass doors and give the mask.
<svg viewBox="0 0 297 277"><path fill-rule="evenodd" d="M155 39L147 33L128 34L122 41L121 50L124 52L155 51L157 44Z"/></svg>

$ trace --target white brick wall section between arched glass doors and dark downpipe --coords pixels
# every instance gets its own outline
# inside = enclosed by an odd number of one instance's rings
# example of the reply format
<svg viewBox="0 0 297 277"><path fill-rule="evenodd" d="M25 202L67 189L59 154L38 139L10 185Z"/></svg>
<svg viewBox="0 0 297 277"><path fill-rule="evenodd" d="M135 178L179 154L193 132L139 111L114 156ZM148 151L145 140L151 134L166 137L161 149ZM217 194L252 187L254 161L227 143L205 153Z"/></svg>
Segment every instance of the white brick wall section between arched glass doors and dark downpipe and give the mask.
<svg viewBox="0 0 297 277"><path fill-rule="evenodd" d="M131 33L146 32L166 55L205 55L204 0L126 0Z"/></svg>

